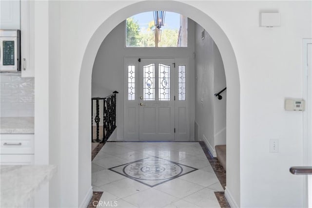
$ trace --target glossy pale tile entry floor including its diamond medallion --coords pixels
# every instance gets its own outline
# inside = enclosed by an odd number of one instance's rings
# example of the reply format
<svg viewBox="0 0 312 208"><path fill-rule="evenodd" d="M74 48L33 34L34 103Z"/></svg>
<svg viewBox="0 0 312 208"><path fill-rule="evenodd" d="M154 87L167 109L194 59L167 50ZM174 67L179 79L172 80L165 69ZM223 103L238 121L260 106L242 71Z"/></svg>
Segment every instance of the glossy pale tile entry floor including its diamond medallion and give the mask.
<svg viewBox="0 0 312 208"><path fill-rule="evenodd" d="M225 176L203 142L105 142L92 152L98 208L228 208Z"/></svg>

